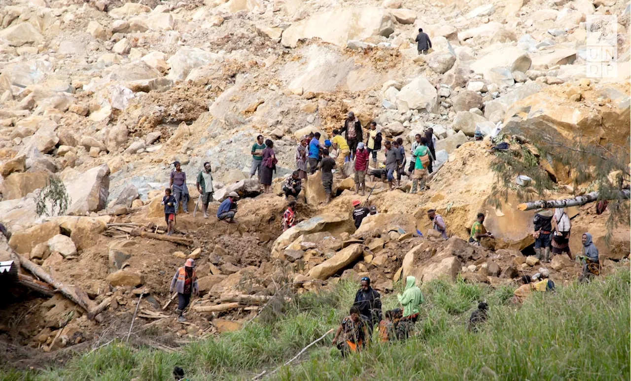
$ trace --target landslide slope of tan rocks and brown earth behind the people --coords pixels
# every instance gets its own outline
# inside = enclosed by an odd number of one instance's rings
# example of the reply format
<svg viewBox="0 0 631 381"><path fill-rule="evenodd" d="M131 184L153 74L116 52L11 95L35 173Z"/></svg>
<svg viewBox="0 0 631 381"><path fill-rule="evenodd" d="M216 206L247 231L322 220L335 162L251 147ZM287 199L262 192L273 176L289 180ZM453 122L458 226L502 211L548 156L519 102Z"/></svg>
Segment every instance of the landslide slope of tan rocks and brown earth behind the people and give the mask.
<svg viewBox="0 0 631 381"><path fill-rule="evenodd" d="M14 305L0 319L2 330L46 350L88 342L112 322L125 331L144 291L145 322L201 336L235 329L261 306L210 319L203 307L230 303L235 293L264 300L280 281L300 282L304 292L331 276L370 274L388 291L408 273L498 285L538 271L540 264L524 257L533 243L532 212L517 211L512 193L501 209L487 202L496 181L488 135L516 124L566 139L626 139L628 13L616 0L3 1L0 222L13 232L17 254L81 288L90 307L109 302L91 320L60 295L30 300L28 328L5 321L23 308ZM590 15L618 16L618 78L585 78ZM416 52L418 28L432 39L430 54ZM324 206L316 174L298 206L305 222L281 235L283 200L257 196L257 182L245 180L255 137L274 140L282 177L295 168L299 136L320 131L326 139L350 110L363 126L375 120L386 138L403 138L406 151L416 133L432 127L435 168L444 165L420 195L404 192L405 178L394 192L371 182L370 203L380 215L357 232L352 180L336 180L338 197ZM484 141L473 141L476 129ZM204 161L213 167L216 201L232 190L257 196L240 201L239 225L182 215L177 229L186 241L137 237L163 232L160 195L175 160L188 175L189 210ZM572 168L548 170L558 185L552 198L587 188L569 186ZM68 190L68 216L35 213L53 176ZM280 179L274 184L278 193ZM430 208L445 217L449 242L427 237ZM483 249L463 242L480 211L496 237ZM618 226L604 243L608 212L597 216L585 206L571 214L572 250L589 229L606 267L625 263L628 228ZM189 255L198 258L204 296L183 329L160 316L174 309L162 308L168 281ZM551 268L557 281L578 271L562 259Z"/></svg>

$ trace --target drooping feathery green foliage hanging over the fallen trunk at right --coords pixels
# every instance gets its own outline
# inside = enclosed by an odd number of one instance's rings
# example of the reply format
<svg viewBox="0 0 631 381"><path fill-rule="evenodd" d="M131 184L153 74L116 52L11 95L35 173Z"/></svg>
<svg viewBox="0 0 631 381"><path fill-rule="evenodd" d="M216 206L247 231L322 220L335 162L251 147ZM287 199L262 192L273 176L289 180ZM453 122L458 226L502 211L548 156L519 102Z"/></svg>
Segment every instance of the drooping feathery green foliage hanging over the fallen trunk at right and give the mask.
<svg viewBox="0 0 631 381"><path fill-rule="evenodd" d="M606 240L618 223L631 225L631 202L619 196L631 184L631 137L616 142L565 137L545 122L531 121L510 122L502 132L494 143L507 141L510 149L495 153L491 165L497 182L490 202L497 208L509 191L520 201L543 199L546 191L558 191L559 177L569 180L576 196L596 191L598 201L608 201ZM533 179L530 186L516 185L518 175Z"/></svg>

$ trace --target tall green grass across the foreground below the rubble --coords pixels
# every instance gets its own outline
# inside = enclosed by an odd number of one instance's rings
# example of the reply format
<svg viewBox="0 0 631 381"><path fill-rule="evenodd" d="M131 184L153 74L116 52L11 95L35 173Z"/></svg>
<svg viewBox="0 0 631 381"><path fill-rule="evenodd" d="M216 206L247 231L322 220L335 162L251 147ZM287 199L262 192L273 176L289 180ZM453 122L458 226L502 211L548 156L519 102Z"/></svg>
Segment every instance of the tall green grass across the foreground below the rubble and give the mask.
<svg viewBox="0 0 631 381"><path fill-rule="evenodd" d="M268 308L239 332L189 344L177 353L111 344L45 372L0 370L0 380L172 380L175 365L191 380L245 380L273 370L335 327L348 312L356 285L306 295ZM406 342L376 344L342 359L333 335L310 348L274 380L630 380L631 272L591 284L533 295L521 308L512 290L432 281L422 286L423 319ZM490 319L471 334L466 321L478 300ZM384 307L396 307L396 297ZM7 366L6 364L0 366Z"/></svg>

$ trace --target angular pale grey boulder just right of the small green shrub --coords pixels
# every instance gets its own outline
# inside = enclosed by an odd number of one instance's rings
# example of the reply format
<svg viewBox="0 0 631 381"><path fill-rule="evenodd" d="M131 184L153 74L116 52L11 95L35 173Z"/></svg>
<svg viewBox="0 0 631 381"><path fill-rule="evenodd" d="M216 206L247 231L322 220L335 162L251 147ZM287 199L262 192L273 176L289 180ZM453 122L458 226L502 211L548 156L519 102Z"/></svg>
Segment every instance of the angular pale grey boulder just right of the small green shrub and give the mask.
<svg viewBox="0 0 631 381"><path fill-rule="evenodd" d="M107 164L83 173L74 168L66 168L62 172L62 180L71 199L68 214L83 216L100 211L107 205L110 193L110 168Z"/></svg>

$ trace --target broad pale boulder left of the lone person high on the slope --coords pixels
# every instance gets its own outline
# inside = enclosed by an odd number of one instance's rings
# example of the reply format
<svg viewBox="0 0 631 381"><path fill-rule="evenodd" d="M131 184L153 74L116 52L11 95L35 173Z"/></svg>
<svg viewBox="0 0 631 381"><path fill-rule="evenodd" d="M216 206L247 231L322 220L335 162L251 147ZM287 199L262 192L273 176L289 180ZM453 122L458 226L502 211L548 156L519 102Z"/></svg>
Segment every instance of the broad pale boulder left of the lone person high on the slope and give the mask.
<svg viewBox="0 0 631 381"><path fill-rule="evenodd" d="M393 17L386 9L374 6L351 6L330 9L293 23L283 32L281 43L295 47L298 40L321 38L322 41L345 47L348 40L363 40L394 32Z"/></svg>

